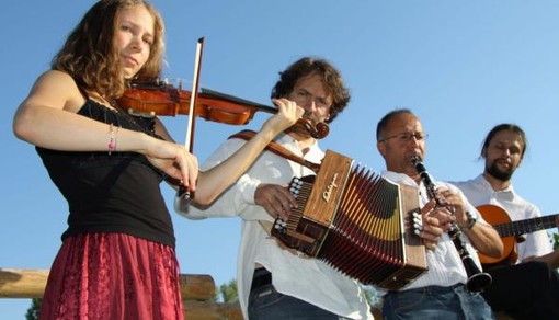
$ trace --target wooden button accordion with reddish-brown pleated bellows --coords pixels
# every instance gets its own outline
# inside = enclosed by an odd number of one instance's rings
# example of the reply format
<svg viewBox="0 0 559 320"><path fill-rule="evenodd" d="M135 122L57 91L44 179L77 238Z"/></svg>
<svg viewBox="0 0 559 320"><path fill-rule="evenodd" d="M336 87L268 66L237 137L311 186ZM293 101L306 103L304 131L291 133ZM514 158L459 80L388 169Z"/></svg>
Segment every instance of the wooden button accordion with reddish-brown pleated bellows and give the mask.
<svg viewBox="0 0 559 320"><path fill-rule="evenodd" d="M414 235L417 188L396 184L327 150L317 175L295 178L298 207L272 236L366 285L399 289L427 270Z"/></svg>

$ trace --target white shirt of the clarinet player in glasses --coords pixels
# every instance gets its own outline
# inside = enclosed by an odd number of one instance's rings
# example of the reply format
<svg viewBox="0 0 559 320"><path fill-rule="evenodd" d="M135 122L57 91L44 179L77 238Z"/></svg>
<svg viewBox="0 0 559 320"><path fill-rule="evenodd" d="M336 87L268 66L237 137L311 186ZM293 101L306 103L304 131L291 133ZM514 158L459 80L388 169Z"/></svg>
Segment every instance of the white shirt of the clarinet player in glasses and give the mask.
<svg viewBox="0 0 559 320"><path fill-rule="evenodd" d="M383 176L386 179L396 182L402 183L407 185L412 185L418 187L418 184L413 179L403 173L396 173L391 171L383 171ZM436 187L447 187L454 190L464 199L464 204L466 206L466 210L468 210L474 217L478 219L478 224L487 224L483 219L481 219L481 215L476 208L468 203L463 193L448 183L444 182L433 182ZM423 207L429 202L427 191L423 185L423 182L419 185L419 203L420 207ZM468 250L469 255L474 260L474 262L481 270L481 263L479 261L478 255L476 254L476 250L471 245L468 237L461 232L463 241ZM414 282L403 287L402 290L420 288L426 286L443 286L448 287L458 283L466 284L468 279L468 275L464 267L464 263L461 262L460 255L456 250L450 237L448 233L443 233L441 240L438 241L436 248L434 250L426 250L427 258L427 272L418 277Z"/></svg>

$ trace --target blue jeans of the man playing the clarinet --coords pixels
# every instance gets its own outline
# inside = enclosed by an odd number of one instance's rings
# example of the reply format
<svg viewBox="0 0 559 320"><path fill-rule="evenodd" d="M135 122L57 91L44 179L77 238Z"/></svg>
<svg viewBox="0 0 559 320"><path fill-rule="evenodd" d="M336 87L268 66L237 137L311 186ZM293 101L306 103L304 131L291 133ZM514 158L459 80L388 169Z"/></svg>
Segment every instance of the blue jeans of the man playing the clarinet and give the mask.
<svg viewBox="0 0 559 320"><path fill-rule="evenodd" d="M461 284L389 292L384 297L383 315L386 320L494 319L483 297L468 292Z"/></svg>

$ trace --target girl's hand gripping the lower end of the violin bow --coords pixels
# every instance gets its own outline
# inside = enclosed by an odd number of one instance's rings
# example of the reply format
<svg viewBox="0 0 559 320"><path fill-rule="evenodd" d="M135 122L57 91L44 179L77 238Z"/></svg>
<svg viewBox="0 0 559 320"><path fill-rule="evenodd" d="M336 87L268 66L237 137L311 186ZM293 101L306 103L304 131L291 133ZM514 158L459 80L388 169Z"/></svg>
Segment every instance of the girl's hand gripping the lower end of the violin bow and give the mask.
<svg viewBox="0 0 559 320"><path fill-rule="evenodd" d="M182 145L156 139L146 151L146 158L157 169L181 181L186 190L196 188L198 160Z"/></svg>

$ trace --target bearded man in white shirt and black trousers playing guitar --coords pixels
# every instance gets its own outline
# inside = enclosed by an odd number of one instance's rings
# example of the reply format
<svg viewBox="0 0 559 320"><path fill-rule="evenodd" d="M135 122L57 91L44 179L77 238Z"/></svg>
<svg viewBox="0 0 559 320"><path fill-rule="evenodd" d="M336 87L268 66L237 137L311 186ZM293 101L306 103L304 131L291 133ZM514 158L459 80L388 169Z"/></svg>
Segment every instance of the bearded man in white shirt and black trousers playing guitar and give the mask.
<svg viewBox="0 0 559 320"><path fill-rule="evenodd" d="M487 135L480 157L484 171L474 180L453 182L468 201L480 205L495 205L511 221L541 217L539 208L521 197L511 178L526 151L524 130L515 124L500 124ZM489 217L483 215L486 220ZM497 212L495 212L497 213ZM514 319L559 319L559 251L554 251L545 230L523 235L516 243L517 258L503 260L505 264L484 265L492 276L492 285L483 297L493 311L505 312ZM506 252L506 250L505 250Z"/></svg>

